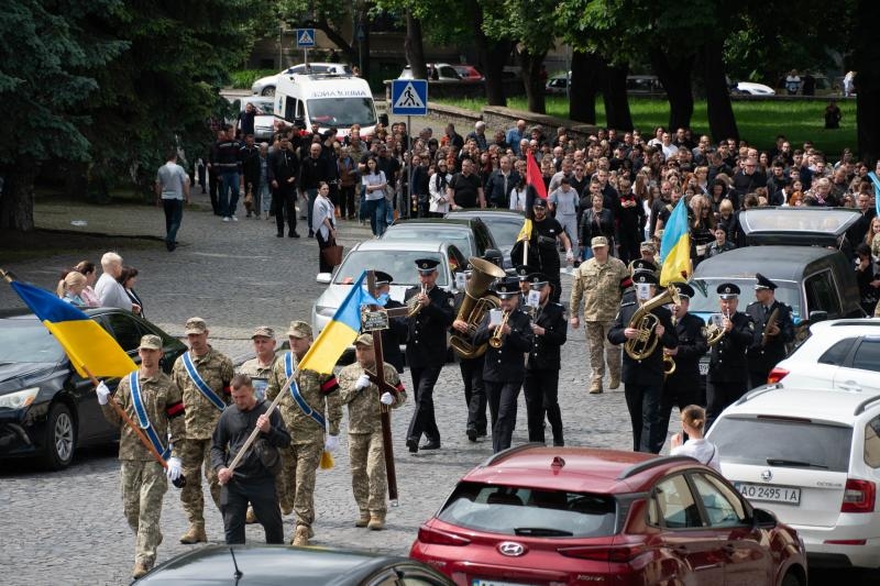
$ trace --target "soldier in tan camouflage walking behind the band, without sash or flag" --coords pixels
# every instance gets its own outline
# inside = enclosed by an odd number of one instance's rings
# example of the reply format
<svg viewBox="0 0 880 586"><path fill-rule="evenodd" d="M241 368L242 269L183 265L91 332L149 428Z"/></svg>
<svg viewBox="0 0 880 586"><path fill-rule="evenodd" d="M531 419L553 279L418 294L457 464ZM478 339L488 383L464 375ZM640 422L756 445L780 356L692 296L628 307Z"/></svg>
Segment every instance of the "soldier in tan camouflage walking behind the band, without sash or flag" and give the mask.
<svg viewBox="0 0 880 586"><path fill-rule="evenodd" d="M602 377L608 365L612 389L620 386L620 346L607 341L617 308L620 305L620 283L629 278L626 265L608 254L608 239L596 236L590 242L593 257L574 270L571 288L571 327L581 325L578 317L581 298L584 301L586 343L590 349L590 392L602 392ZM604 353L604 356L603 356Z"/></svg>

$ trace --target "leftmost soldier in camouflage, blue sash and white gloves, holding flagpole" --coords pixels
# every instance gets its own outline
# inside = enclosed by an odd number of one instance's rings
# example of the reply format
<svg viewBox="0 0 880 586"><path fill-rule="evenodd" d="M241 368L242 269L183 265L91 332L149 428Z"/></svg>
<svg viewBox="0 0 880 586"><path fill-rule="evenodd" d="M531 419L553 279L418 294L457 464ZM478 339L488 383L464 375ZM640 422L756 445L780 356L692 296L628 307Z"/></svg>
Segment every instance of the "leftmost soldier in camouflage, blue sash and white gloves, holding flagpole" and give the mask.
<svg viewBox="0 0 880 586"><path fill-rule="evenodd" d="M155 430L160 441L167 441L168 431L172 440L177 440L184 434L184 418L180 417L184 414L184 403L180 389L158 367L162 340L157 335L143 336L138 353L141 356L141 366L135 373L150 425ZM107 420L114 425L121 425L119 460L122 461L120 473L122 507L129 527L136 535L132 576L139 578L146 574L156 561L156 548L162 543L160 529L162 498L168 488L167 478L175 479L180 475L180 461L170 457L166 473L162 464L141 443L136 433L110 407L110 400L117 401L132 420L138 421L129 377L120 380L114 398L110 398L110 390L103 383L98 385L98 401ZM162 446L157 451L161 453ZM172 453L176 456L176 452L175 447Z"/></svg>

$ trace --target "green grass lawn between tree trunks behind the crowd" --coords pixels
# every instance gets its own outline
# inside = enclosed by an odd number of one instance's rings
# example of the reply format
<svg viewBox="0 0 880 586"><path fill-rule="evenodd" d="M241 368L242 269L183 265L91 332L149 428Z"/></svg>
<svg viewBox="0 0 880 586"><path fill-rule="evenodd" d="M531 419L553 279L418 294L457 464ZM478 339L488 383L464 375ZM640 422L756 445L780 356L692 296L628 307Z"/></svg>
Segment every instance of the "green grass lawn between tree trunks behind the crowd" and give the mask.
<svg viewBox="0 0 880 586"><path fill-rule="evenodd" d="M476 111L485 106L484 101L476 99L438 101ZM527 110L526 103L525 97L507 100L507 106L514 110ZM813 145L826 153L829 158L837 159L845 147L856 151L856 102L855 100L837 102L844 114L838 130L825 130L824 128L824 113L828 101L824 99L809 101L735 100L734 113L740 137L755 144L759 150L769 150L776 142L777 134L784 134L795 148L803 145L804 141L812 141ZM666 100L629 98L629 109L636 128L648 137L654 126L666 126L669 122L669 102ZM564 97L548 96L547 113L568 118L568 100ZM602 98L596 100L596 122L600 125L605 124L605 104ZM708 133L705 100L694 103L691 128L696 135Z"/></svg>

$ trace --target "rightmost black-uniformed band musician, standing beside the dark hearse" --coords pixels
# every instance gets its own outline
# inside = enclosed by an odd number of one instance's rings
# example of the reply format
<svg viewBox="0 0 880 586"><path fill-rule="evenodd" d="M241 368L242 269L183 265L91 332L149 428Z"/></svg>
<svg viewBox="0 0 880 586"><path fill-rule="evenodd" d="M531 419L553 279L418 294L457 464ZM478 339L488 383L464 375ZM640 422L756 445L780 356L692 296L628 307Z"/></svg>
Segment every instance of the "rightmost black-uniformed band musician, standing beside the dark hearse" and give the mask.
<svg viewBox="0 0 880 586"><path fill-rule="evenodd" d="M755 322L755 340L748 351L749 358L749 388L767 384L770 371L785 357L785 344L794 340L794 322L791 319L791 308L777 301L777 284L760 273L755 275L755 298L757 301L749 303L746 313ZM777 317L773 323L768 324L774 310ZM765 332L767 335L765 335Z"/></svg>

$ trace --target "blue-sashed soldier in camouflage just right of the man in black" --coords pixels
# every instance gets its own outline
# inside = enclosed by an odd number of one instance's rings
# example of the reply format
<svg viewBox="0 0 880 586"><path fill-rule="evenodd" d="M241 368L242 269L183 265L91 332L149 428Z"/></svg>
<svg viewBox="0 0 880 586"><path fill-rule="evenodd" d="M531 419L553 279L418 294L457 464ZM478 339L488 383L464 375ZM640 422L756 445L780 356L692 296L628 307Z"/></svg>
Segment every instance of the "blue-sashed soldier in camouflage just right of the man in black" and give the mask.
<svg viewBox="0 0 880 586"><path fill-rule="evenodd" d="M302 371L296 377L299 396L314 416L306 414L297 403L290 385L286 385L287 369L289 366L293 373L311 346L311 327L304 321L292 321L287 336L290 341L290 352L275 363L266 387L266 399L274 401L278 392L284 392L278 409L290 433L292 442L289 447L280 450L286 493L279 495L279 499L282 508L293 507L296 512L296 529L292 543L308 545L309 539L315 535L311 529L311 523L315 521L315 473L321 462L321 453L324 450L332 452L339 445L342 407L336 397L330 395L339 389L336 376L314 371ZM319 424L317 420L324 418L327 423ZM328 432L326 439L324 431Z"/></svg>

